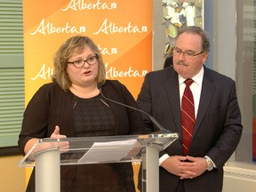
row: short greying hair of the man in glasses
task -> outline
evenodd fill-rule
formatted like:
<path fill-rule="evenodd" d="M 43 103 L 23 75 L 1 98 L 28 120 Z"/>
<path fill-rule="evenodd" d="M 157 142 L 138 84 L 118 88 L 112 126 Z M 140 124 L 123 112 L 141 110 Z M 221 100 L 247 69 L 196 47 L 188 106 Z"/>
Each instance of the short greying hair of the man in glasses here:
<path fill-rule="evenodd" d="M 208 33 L 203 29 L 198 26 L 185 26 L 181 27 L 178 35 L 176 36 L 176 40 L 179 38 L 179 36 L 183 33 L 192 33 L 192 34 L 197 34 L 198 36 L 201 36 L 202 39 L 202 51 L 204 52 L 210 52 L 210 40 L 208 37 Z"/>

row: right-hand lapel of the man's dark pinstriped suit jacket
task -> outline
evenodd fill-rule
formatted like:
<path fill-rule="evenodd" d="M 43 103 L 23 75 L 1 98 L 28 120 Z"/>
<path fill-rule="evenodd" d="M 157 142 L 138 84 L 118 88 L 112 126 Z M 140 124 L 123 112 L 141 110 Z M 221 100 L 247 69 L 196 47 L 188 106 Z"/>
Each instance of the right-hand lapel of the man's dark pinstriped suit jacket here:
<path fill-rule="evenodd" d="M 196 116 L 196 125 L 194 129 L 194 134 L 196 134 L 202 120 L 204 118 L 204 114 L 207 108 L 210 105 L 210 101 L 212 100 L 213 92 L 215 90 L 215 86 L 213 83 L 213 79 L 211 76 L 211 71 L 208 68 L 204 68 L 204 78 L 202 84 L 202 91 L 199 101 L 198 112 Z"/>

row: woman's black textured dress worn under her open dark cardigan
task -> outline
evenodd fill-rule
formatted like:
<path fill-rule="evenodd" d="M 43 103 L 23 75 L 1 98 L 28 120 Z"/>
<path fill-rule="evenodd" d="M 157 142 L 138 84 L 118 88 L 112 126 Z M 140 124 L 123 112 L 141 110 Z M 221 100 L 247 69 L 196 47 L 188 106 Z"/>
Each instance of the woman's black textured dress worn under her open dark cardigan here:
<path fill-rule="evenodd" d="M 73 95 L 72 106 L 76 137 L 115 135 L 114 116 L 108 101 L 100 95 L 90 99 Z M 34 188 L 29 190 L 28 185 L 27 191 L 34 191 Z M 60 167 L 60 191 L 135 191 L 132 164 L 63 165 Z"/>

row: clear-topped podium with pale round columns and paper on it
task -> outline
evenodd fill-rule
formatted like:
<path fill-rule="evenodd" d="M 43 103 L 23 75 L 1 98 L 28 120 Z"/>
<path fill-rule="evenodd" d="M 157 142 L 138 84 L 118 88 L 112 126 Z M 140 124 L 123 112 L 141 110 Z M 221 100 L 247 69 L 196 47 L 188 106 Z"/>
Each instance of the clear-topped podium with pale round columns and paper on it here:
<path fill-rule="evenodd" d="M 159 191 L 159 152 L 178 133 L 39 139 L 20 162 L 36 168 L 36 192 L 60 191 L 60 165 L 140 162 L 141 192 Z M 67 148 L 68 145 L 68 148 Z M 140 179 L 139 179 L 140 180 Z"/>

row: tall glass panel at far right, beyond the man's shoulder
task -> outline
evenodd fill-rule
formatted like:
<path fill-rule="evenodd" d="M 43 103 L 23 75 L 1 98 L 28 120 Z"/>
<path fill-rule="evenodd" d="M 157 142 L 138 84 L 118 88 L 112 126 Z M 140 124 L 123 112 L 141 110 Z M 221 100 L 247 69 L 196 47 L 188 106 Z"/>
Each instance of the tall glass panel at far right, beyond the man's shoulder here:
<path fill-rule="evenodd" d="M 230 166 L 255 169 L 255 3 L 236 1 L 236 92 L 242 112 L 243 135 Z M 254 40 L 253 40 L 254 38 Z M 251 167 L 252 165 L 252 167 Z"/>

